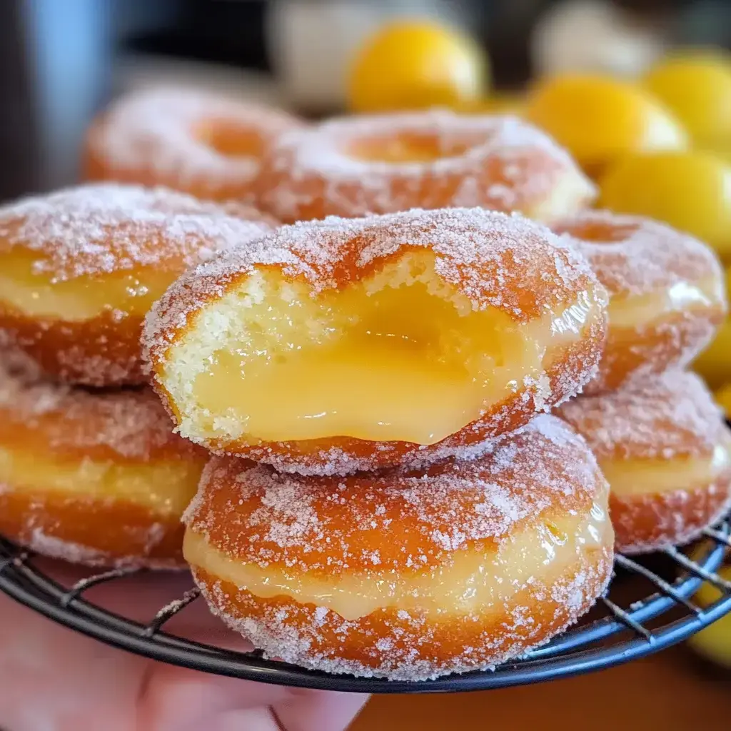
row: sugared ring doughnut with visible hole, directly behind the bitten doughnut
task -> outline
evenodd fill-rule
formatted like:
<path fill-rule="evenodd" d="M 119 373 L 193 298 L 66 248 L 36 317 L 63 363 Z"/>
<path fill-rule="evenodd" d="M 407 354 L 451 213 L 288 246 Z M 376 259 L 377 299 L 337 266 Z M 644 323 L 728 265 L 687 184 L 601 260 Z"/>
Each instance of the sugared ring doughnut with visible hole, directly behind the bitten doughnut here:
<path fill-rule="evenodd" d="M 336 118 L 282 135 L 259 207 L 287 223 L 409 208 L 491 208 L 553 221 L 594 200 L 569 154 L 510 116 L 446 110 Z"/>

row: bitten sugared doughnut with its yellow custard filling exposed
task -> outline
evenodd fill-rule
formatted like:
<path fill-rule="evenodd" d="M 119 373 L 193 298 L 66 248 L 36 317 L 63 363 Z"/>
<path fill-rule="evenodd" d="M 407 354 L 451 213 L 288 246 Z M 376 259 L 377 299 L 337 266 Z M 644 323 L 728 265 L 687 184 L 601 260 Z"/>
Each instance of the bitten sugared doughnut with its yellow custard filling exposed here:
<path fill-rule="evenodd" d="M 606 293 L 539 224 L 480 208 L 285 226 L 151 311 L 183 434 L 303 474 L 461 453 L 594 373 Z"/>

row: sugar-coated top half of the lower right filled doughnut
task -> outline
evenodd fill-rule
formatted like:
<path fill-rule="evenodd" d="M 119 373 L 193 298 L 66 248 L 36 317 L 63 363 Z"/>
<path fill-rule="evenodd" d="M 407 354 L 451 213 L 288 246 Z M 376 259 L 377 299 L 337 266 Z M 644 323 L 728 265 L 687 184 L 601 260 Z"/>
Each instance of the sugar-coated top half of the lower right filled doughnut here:
<path fill-rule="evenodd" d="M 729 439 L 708 387 L 679 370 L 576 398 L 558 414 L 585 436 L 599 461 L 707 458 Z"/>

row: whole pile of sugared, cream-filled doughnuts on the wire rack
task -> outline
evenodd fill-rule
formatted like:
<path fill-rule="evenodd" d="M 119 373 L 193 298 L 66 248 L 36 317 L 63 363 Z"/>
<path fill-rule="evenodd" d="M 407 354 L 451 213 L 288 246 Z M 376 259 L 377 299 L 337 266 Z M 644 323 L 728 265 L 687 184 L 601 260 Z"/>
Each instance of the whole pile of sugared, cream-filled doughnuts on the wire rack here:
<path fill-rule="evenodd" d="M 718 262 L 585 212 L 538 129 L 158 89 L 85 170 L 0 208 L 7 537 L 189 565 L 265 656 L 419 681 L 548 642 L 615 548 L 726 510 L 730 435 L 683 373 Z"/>

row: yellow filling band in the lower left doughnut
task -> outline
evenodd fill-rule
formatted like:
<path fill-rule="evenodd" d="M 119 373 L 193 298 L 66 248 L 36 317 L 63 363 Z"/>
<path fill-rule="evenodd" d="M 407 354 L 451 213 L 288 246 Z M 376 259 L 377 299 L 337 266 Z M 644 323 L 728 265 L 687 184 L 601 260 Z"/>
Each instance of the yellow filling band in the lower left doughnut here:
<path fill-rule="evenodd" d="M 129 500 L 159 515 L 182 515 L 197 489 L 202 463 L 118 464 L 54 460 L 48 455 L 0 447 L 0 485 L 18 492 Z"/>

